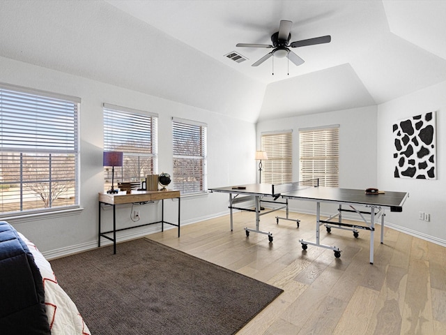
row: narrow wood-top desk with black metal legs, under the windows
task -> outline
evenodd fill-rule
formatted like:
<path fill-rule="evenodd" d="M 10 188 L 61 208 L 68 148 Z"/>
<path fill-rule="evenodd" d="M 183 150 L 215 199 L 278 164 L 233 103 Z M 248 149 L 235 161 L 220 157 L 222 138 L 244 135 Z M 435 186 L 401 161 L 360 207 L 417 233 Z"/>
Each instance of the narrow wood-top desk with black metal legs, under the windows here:
<path fill-rule="evenodd" d="M 175 225 L 178 227 L 178 237 L 180 237 L 180 191 L 132 191 L 131 194 L 110 194 L 99 193 L 99 229 L 98 229 L 98 247 L 100 246 L 100 238 L 105 237 L 110 241 L 113 241 L 113 253 L 116 253 L 116 232 L 121 230 L 128 230 L 132 228 L 143 227 L 144 225 L 154 225 L 155 223 L 161 223 L 161 231 L 164 231 L 164 223 L 169 225 Z M 178 199 L 178 223 L 170 223 L 164 221 L 164 199 Z M 132 227 L 126 227 L 116 229 L 116 204 L 145 204 L 149 202 L 155 202 L 161 200 L 161 221 L 155 221 L 151 223 L 144 223 L 142 225 L 133 225 Z M 102 232 L 100 227 L 100 204 L 110 204 L 113 206 L 113 230 Z M 107 234 L 113 233 L 113 237 L 109 237 Z"/>

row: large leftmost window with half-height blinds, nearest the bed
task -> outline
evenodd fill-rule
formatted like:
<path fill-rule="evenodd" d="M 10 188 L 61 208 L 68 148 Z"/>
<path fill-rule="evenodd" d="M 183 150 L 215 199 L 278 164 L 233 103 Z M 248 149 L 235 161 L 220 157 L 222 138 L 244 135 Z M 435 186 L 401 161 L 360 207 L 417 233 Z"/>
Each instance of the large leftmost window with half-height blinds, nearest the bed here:
<path fill-rule="evenodd" d="M 1 214 L 79 206 L 80 99 L 0 84 Z"/>

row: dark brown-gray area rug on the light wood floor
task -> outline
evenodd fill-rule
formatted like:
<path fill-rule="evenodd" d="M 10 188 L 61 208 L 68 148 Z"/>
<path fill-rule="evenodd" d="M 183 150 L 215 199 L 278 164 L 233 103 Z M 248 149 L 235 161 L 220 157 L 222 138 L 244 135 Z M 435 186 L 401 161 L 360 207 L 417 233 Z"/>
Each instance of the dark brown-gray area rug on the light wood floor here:
<path fill-rule="evenodd" d="M 51 261 L 91 334 L 235 334 L 283 291 L 149 239 Z"/>

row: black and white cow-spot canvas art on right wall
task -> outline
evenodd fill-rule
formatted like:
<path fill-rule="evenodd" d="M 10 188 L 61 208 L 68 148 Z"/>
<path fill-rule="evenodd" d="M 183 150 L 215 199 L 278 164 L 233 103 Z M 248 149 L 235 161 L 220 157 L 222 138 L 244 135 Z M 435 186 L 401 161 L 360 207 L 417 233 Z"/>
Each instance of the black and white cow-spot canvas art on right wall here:
<path fill-rule="evenodd" d="M 436 179 L 435 112 L 393 125 L 395 178 Z"/>

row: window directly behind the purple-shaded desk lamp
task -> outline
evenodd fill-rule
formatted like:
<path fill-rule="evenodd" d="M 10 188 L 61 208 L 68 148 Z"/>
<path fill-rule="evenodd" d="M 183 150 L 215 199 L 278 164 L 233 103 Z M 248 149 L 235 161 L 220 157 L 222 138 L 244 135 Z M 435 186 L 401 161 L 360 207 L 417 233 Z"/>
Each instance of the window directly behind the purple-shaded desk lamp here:
<path fill-rule="evenodd" d="M 123 166 L 114 168 L 115 183 L 140 182 L 157 170 L 157 114 L 104 104 L 104 151 L 122 151 Z M 104 168 L 105 190 L 112 170 Z M 116 187 L 115 184 L 115 187 Z"/>

